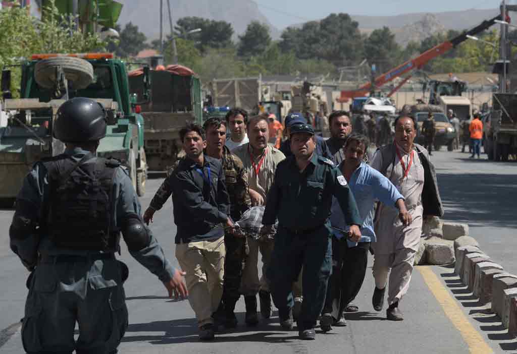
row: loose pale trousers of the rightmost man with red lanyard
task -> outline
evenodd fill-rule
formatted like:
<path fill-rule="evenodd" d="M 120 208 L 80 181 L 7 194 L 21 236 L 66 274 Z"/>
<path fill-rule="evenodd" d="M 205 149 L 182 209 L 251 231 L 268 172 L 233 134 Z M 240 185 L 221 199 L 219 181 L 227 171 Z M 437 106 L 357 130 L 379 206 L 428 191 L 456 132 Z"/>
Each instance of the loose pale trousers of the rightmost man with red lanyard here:
<path fill-rule="evenodd" d="M 375 286 L 383 289 L 388 285 L 388 304 L 400 301 L 407 293 L 413 264 L 415 262 L 415 251 L 410 248 L 403 248 L 390 254 L 375 254 L 373 260 L 373 277 Z M 391 269 L 391 272 L 390 272 Z"/>

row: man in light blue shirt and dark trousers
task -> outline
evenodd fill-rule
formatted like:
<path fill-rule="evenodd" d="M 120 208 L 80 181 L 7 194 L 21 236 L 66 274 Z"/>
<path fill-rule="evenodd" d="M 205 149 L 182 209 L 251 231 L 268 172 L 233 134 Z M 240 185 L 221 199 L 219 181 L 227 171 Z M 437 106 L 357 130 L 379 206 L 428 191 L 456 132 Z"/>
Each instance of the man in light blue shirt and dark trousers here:
<path fill-rule="evenodd" d="M 330 222 L 334 227 L 332 239 L 332 276 L 327 288 L 325 308 L 320 321 L 323 331 L 329 331 L 331 325 L 346 326 L 343 310 L 354 300 L 362 286 L 368 263 L 370 243 L 375 242 L 373 231 L 373 203 L 380 200 L 385 205 L 397 207 L 399 219 L 404 224 L 411 222 L 406 210 L 404 197 L 397 188 L 380 172 L 363 162 L 369 146 L 368 138 L 352 134 L 344 146 L 345 159 L 339 169 L 348 187 L 352 190 L 362 220 L 359 242 L 347 239 L 346 218 L 336 198 L 332 201 Z M 343 230 L 343 231 L 338 231 Z"/>

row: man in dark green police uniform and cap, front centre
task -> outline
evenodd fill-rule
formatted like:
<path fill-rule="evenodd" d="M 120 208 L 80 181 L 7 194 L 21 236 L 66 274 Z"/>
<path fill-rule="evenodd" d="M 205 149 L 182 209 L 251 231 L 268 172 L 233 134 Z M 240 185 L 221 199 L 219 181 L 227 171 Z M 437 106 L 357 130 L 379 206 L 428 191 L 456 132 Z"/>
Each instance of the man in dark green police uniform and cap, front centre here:
<path fill-rule="evenodd" d="M 329 216 L 335 196 L 350 226 L 350 235 L 360 239 L 359 212 L 343 175 L 333 163 L 314 153 L 314 130 L 308 124 L 291 128 L 291 151 L 279 164 L 269 192 L 262 223 L 268 234 L 278 217 L 275 248 L 267 268 L 273 300 L 282 328 L 293 328 L 292 284 L 303 267 L 303 302 L 297 319 L 300 339 L 313 340 L 317 317 L 323 309 L 332 268 Z"/>

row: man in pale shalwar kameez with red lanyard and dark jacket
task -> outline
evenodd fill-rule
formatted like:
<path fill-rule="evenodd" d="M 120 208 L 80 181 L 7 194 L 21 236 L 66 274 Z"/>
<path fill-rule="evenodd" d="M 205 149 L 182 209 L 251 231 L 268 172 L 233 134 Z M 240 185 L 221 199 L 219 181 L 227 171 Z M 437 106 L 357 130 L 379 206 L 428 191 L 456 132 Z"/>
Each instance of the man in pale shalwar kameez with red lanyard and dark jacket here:
<path fill-rule="evenodd" d="M 393 143 L 378 149 L 372 160 L 372 167 L 384 174 L 404 196 L 407 211 L 412 217 L 412 222 L 405 225 L 398 219 L 396 209 L 382 203 L 375 215 L 377 242 L 372 243 L 375 253 L 372 304 L 376 311 L 382 310 L 388 286 L 386 316 L 390 320 L 404 319 L 399 301 L 409 287 L 423 219 L 443 215 L 434 166 L 427 150 L 413 142 L 415 126 L 413 118 L 397 118 Z M 424 200 L 422 195 L 425 195 Z"/>

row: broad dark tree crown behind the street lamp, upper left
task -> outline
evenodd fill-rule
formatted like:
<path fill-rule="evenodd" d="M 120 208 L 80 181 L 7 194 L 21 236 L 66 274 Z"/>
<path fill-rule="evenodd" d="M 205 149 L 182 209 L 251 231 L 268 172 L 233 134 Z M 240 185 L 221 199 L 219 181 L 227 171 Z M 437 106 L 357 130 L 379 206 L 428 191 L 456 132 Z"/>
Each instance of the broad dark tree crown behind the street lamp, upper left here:
<path fill-rule="evenodd" d="M 198 33 L 187 34 L 200 28 Z M 176 22 L 176 37 L 184 37 L 196 42 L 196 47 L 202 53 L 210 48 L 221 49 L 232 46 L 233 28 L 226 21 L 214 21 L 200 17 L 184 17 Z"/>

